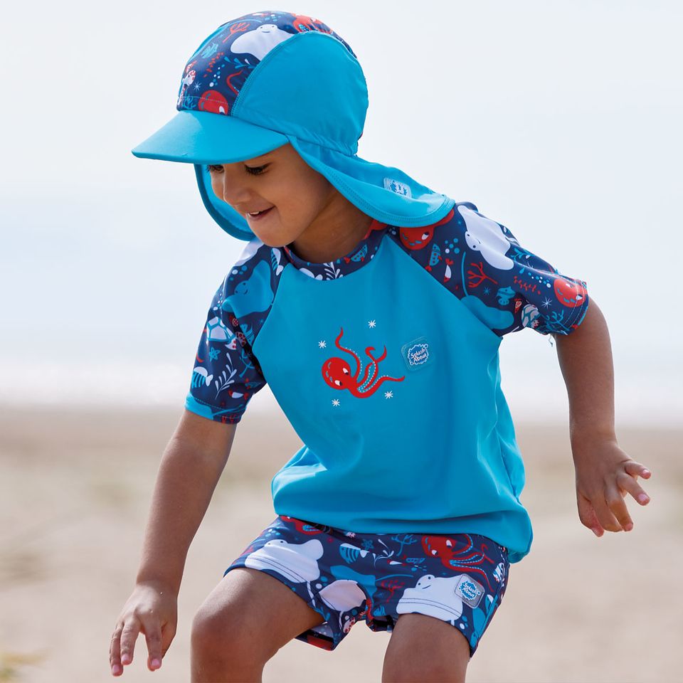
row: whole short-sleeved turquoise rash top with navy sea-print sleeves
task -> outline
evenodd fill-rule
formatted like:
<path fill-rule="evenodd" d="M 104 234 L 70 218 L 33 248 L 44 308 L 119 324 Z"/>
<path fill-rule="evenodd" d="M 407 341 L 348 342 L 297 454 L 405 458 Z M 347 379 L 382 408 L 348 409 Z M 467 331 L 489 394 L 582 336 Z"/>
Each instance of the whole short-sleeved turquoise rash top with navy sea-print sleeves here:
<path fill-rule="evenodd" d="M 186 408 L 236 423 L 270 386 L 304 445 L 275 474 L 277 514 L 364 533 L 472 533 L 531 546 L 524 464 L 500 386 L 504 334 L 570 334 L 586 282 L 467 202 L 442 221 L 374 221 L 309 263 L 258 239 L 208 311 Z"/>

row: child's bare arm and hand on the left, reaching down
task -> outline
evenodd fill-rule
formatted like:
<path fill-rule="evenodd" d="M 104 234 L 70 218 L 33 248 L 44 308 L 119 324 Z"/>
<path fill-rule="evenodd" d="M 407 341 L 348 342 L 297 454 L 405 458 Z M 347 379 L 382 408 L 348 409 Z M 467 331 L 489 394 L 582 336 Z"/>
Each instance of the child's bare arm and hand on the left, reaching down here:
<path fill-rule="evenodd" d="M 158 669 L 176 631 L 177 596 L 189 546 L 226 465 L 236 424 L 184 411 L 164 450 L 154 485 L 137 579 L 110 644 L 112 674 L 120 676 L 144 633 L 147 667 Z"/>

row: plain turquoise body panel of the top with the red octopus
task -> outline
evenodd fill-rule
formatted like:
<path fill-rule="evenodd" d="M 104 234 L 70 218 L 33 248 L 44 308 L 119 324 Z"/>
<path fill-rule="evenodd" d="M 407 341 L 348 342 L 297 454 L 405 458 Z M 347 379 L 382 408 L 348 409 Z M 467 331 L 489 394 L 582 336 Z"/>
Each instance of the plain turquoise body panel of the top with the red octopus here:
<path fill-rule="evenodd" d="M 272 299 L 268 278 L 250 288 L 226 300 L 239 319 Z M 337 280 L 285 268 L 253 344 L 305 443 L 273 477 L 275 512 L 361 532 L 481 534 L 519 561 L 532 530 L 500 341 L 391 240 Z M 363 383 L 366 368 L 377 376 Z"/>

